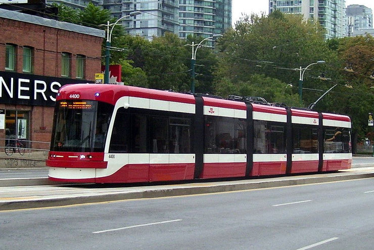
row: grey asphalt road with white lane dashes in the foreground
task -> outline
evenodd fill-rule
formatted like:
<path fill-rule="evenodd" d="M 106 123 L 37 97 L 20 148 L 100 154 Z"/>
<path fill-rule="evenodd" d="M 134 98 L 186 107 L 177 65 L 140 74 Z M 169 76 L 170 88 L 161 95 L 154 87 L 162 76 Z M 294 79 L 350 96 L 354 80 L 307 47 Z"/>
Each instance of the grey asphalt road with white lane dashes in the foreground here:
<path fill-rule="evenodd" d="M 0 212 L 5 249 L 372 249 L 374 178 Z"/>

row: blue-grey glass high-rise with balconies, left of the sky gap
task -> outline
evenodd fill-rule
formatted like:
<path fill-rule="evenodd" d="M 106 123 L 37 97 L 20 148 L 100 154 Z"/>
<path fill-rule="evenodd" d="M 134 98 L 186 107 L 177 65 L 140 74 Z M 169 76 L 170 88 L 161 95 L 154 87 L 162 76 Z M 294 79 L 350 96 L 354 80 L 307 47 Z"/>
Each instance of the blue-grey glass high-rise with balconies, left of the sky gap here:
<path fill-rule="evenodd" d="M 180 38 L 222 34 L 231 27 L 231 5 L 232 0 L 103 0 L 103 7 L 116 18 L 141 11 L 122 25 L 128 33 L 149 39 L 165 32 Z"/>

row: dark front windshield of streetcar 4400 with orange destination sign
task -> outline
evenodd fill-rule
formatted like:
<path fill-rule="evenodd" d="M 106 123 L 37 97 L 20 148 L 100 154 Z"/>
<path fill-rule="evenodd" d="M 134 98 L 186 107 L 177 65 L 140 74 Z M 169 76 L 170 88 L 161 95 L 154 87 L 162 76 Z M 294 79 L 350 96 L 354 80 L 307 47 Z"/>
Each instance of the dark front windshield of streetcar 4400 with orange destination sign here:
<path fill-rule="evenodd" d="M 104 152 L 113 105 L 90 100 L 56 104 L 52 151 Z"/>

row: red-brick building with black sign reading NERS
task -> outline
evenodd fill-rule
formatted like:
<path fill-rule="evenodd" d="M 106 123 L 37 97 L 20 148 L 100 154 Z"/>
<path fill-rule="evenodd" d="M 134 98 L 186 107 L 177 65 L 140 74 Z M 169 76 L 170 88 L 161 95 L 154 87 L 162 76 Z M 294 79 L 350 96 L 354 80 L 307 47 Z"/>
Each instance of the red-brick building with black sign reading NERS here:
<path fill-rule="evenodd" d="M 55 97 L 101 72 L 105 31 L 0 9 L 0 146 L 48 149 Z"/>

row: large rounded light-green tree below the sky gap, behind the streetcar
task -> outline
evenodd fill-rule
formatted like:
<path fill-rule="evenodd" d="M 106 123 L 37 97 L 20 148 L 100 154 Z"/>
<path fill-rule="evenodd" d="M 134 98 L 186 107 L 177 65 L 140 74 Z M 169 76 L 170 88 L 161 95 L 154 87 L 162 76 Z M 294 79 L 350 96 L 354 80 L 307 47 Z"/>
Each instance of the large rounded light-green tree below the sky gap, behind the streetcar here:
<path fill-rule="evenodd" d="M 306 67 L 318 60 L 332 58 L 332 51 L 324 42 L 324 31 L 317 23 L 303 21 L 297 15 L 285 15 L 275 11 L 269 16 L 252 15 L 237 22 L 234 29 L 225 33 L 220 39 L 219 49 L 222 59 L 219 63 L 221 70 L 216 72 L 216 80 L 230 80 L 233 85 L 239 82 L 253 84 L 253 74 L 271 77 L 287 85 L 297 86 L 300 66 Z M 315 77 L 325 68 L 313 66 Z M 305 74 L 304 83 L 317 87 L 320 82 Z M 309 87 L 310 88 L 310 87 Z M 297 93 L 297 88 L 293 88 Z M 280 91 L 280 90 L 279 90 Z M 284 99 L 288 100 L 287 92 Z M 290 94 L 293 94 L 290 93 Z M 314 101 L 306 93 L 304 103 L 306 106 Z"/>

